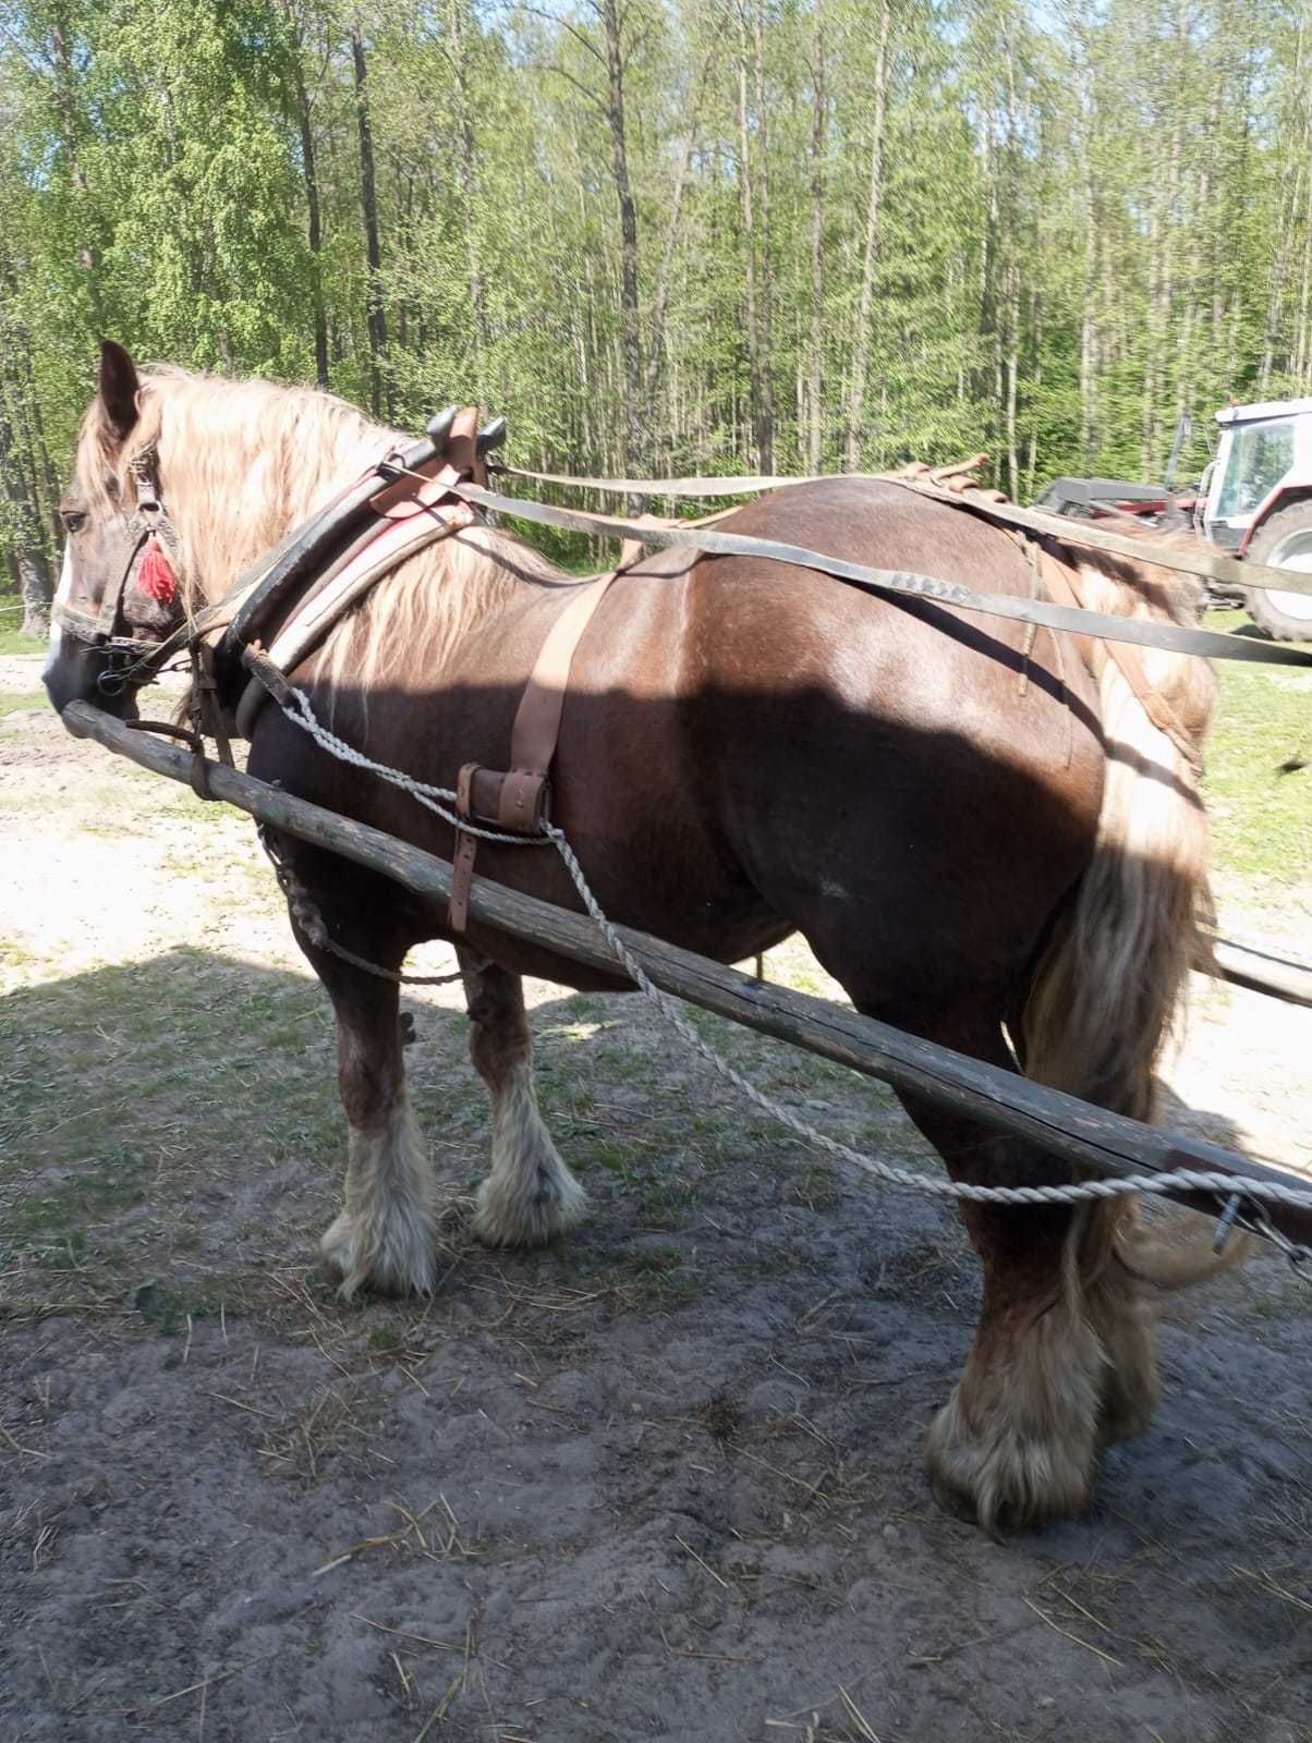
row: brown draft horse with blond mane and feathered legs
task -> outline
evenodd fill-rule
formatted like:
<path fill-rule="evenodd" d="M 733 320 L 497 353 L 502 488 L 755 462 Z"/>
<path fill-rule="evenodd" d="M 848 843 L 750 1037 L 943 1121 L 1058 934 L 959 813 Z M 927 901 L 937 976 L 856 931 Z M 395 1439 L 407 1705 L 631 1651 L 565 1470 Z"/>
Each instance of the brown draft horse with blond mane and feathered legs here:
<path fill-rule="evenodd" d="M 61 505 L 59 601 L 94 615 L 127 561 L 119 627 L 159 641 L 398 439 L 319 390 L 138 371 L 105 343 Z M 134 582 L 141 479 L 176 540 L 167 605 Z M 797 483 L 722 525 L 993 593 L 1035 587 L 1021 540 L 893 481 Z M 1197 617 L 1192 584 L 1150 561 L 1063 556 L 1094 610 Z M 483 518 L 403 563 L 290 682 L 370 758 L 452 786 L 466 762 L 508 767 L 525 680 L 579 586 Z M 99 683 L 108 659 L 56 624 L 51 702 L 131 716 L 131 688 Z M 614 920 L 721 962 L 801 933 L 857 1011 L 1148 1119 L 1207 906 L 1197 748 L 1213 687 L 1188 655 L 1153 648 L 1143 669 L 1153 709 L 1087 638 L 672 547 L 618 573 L 577 645 L 551 816 Z M 445 821 L 328 755 L 281 708 L 251 729 L 249 772 L 452 858 Z M 457 934 L 443 903 L 293 837 L 272 845 L 331 939 L 365 962 L 394 973 L 419 941 L 455 946 L 490 1096 L 473 1232 L 515 1248 L 574 1227 L 584 1192 L 537 1109 L 522 976 L 630 981 L 476 919 Z M 579 906 L 550 849 L 483 844 L 480 856 L 482 877 Z M 298 912 L 293 901 L 297 941 L 337 1016 L 349 1133 L 323 1257 L 345 1297 L 431 1292 L 438 1192 L 407 1095 L 398 987 L 316 943 Z M 900 1100 L 956 1180 L 1073 1178 L 1033 1142 Z M 1124 1197 L 965 1203 L 961 1215 L 982 1306 L 928 1428 L 932 1485 L 989 1530 L 1078 1513 L 1103 1448 L 1141 1433 L 1158 1400 L 1151 1288 L 1200 1265 L 1150 1243 Z"/>

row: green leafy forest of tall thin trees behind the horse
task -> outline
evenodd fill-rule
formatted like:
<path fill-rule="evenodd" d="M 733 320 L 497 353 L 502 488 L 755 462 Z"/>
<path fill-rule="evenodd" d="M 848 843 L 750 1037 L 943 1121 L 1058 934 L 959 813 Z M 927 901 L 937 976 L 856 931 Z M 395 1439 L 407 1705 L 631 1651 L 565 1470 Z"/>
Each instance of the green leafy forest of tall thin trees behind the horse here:
<path fill-rule="evenodd" d="M 1160 478 L 1312 383 L 1312 0 L 9 0 L 0 587 L 96 342 L 581 472 Z M 0 624 L 12 624 L 5 617 Z"/>

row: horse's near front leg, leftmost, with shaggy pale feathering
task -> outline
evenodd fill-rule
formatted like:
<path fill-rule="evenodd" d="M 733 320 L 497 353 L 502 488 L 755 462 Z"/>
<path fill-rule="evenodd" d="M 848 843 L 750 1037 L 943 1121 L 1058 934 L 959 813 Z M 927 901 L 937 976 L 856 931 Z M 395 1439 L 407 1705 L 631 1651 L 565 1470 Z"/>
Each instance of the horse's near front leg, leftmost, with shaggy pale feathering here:
<path fill-rule="evenodd" d="M 347 1299 L 361 1285 L 429 1293 L 436 1189 L 405 1082 L 400 988 L 316 948 L 295 917 L 293 927 L 337 1013 L 337 1081 L 349 1128 L 342 1211 L 319 1243 L 323 1257 Z M 377 939 L 351 943 L 370 960 L 384 957 L 391 967 L 401 960 Z"/>

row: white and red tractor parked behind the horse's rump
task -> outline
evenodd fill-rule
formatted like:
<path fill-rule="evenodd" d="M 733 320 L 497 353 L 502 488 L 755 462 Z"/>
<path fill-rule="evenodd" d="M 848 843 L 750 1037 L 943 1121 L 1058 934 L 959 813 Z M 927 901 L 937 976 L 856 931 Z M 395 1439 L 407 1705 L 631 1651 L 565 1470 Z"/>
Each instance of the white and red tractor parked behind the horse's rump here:
<path fill-rule="evenodd" d="M 1230 556 L 1312 573 L 1312 399 L 1227 406 L 1216 422 L 1221 443 L 1197 492 L 1178 493 L 1171 483 L 1057 478 L 1038 505 L 1090 518 L 1132 514 L 1162 528 L 1193 525 Z M 1181 418 L 1167 479 L 1188 436 Z M 1312 640 L 1312 594 L 1247 587 L 1242 600 L 1253 622 L 1277 641 Z"/>

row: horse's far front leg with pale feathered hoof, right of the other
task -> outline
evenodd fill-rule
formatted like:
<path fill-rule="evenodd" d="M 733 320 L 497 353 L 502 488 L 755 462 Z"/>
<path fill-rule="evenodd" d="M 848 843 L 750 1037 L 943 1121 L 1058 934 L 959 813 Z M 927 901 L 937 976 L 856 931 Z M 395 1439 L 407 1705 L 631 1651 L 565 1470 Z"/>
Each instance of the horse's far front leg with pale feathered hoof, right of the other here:
<path fill-rule="evenodd" d="M 466 950 L 459 959 L 469 1058 L 492 1098 L 492 1173 L 478 1189 L 475 1234 L 489 1246 L 541 1246 L 572 1229 L 588 1199 L 537 1112 L 523 981 Z"/>

